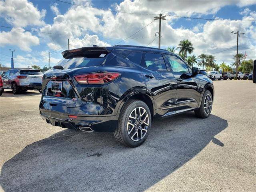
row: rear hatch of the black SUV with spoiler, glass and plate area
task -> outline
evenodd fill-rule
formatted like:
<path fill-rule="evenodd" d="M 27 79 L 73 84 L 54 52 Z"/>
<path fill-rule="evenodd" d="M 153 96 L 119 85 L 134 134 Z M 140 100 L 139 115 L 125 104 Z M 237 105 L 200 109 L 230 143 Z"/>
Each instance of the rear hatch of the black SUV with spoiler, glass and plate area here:
<path fill-rule="evenodd" d="M 74 76 L 97 72 L 97 66 L 106 62 L 109 52 L 102 47 L 62 52 L 64 58 L 43 76 L 42 102 L 67 108 L 85 105 L 88 85 L 78 84 Z"/>

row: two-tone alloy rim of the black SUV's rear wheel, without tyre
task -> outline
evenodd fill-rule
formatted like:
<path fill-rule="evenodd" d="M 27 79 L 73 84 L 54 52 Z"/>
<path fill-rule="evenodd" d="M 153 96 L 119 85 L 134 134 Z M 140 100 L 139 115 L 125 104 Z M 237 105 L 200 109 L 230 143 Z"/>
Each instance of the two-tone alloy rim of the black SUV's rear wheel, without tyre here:
<path fill-rule="evenodd" d="M 129 115 L 127 133 L 131 140 L 139 141 L 144 138 L 148 131 L 148 113 L 143 107 L 136 107 Z"/>

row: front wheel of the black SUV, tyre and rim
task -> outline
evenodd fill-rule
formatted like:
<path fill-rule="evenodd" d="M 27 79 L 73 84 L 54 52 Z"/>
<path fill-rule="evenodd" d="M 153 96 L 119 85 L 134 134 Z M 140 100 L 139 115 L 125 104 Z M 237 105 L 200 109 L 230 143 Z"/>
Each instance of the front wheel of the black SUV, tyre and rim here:
<path fill-rule="evenodd" d="M 199 118 L 207 118 L 212 111 L 212 94 L 209 90 L 204 92 L 200 108 L 195 110 L 195 115 Z"/>

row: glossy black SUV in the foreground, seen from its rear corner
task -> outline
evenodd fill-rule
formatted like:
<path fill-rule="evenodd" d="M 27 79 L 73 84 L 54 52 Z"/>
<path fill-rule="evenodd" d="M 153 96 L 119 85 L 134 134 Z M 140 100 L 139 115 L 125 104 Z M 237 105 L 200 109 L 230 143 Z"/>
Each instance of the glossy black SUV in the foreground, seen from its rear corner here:
<path fill-rule="evenodd" d="M 212 110 L 212 80 L 176 54 L 117 45 L 62 52 L 43 76 L 40 114 L 47 123 L 82 131 L 114 132 L 129 147 L 142 144 L 153 118 Z"/>

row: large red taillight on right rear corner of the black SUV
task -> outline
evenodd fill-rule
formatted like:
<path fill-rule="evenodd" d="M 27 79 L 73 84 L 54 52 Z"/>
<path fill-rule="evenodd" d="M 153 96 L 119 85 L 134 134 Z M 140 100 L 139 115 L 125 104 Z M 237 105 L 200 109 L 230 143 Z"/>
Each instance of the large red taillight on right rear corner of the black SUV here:
<path fill-rule="evenodd" d="M 80 84 L 104 84 L 118 78 L 120 73 L 91 73 L 74 76 Z"/>

